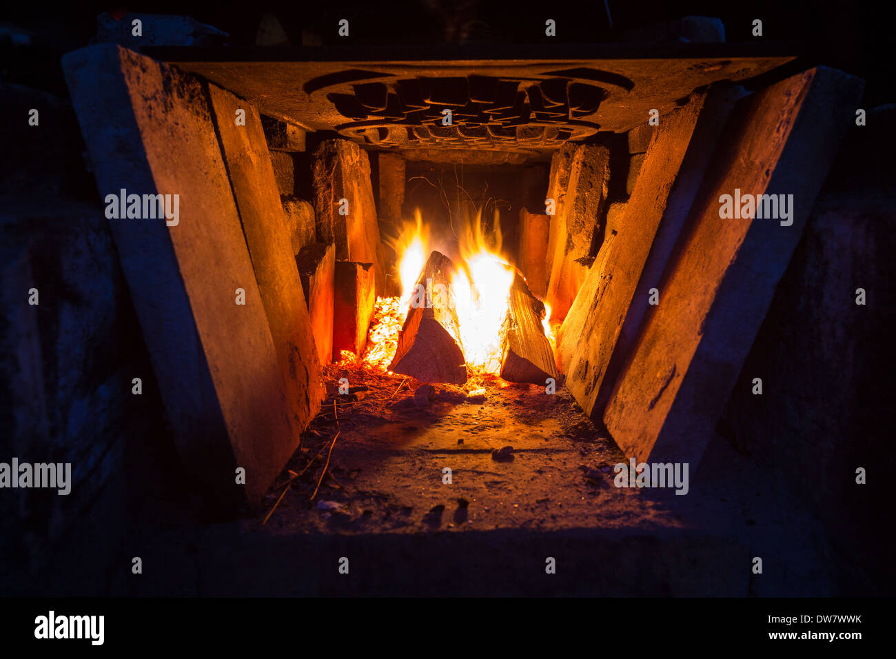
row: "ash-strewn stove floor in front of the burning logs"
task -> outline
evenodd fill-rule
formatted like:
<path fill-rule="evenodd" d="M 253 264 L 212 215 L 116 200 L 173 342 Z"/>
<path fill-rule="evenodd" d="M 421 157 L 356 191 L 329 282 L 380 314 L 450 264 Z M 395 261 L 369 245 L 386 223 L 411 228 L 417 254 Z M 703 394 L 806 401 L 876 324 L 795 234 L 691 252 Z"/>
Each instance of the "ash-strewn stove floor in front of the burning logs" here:
<path fill-rule="evenodd" d="M 614 487 L 624 455 L 563 386 L 428 386 L 354 367 L 327 376 L 330 398 L 265 498 L 264 515 L 277 506 L 271 530 L 679 525 L 668 499 Z"/>

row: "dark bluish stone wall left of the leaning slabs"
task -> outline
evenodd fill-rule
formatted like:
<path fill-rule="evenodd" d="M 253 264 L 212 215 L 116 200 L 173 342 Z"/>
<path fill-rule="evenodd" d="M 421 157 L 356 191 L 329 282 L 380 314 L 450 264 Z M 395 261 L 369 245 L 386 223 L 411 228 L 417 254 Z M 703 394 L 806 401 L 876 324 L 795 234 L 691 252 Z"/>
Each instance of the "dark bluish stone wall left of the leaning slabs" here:
<path fill-rule="evenodd" d="M 177 473 L 177 459 L 71 104 L 25 87 L 4 95 L 7 109 L 39 108 L 40 123 L 3 122 L 21 157 L 0 190 L 0 462 L 71 463 L 72 484 L 2 490 L 0 584 L 102 593 L 116 565 L 129 574 L 129 526 L 183 506 L 152 477 Z"/>

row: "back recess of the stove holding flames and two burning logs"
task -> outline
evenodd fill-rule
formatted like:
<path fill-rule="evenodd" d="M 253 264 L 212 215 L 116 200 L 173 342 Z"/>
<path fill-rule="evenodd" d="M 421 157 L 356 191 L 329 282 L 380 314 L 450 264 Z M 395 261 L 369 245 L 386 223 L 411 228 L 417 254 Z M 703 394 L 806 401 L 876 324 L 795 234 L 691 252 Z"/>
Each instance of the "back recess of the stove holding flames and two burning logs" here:
<path fill-rule="evenodd" d="M 550 307 L 532 290 L 544 297 L 543 268 L 530 283 L 517 265 L 521 228 L 540 230 L 527 235 L 530 262 L 547 249 L 547 216 L 522 205 L 544 204 L 547 168 L 413 163 L 408 178 L 404 216 L 414 219 L 381 222 L 397 294 L 377 297 L 361 363 L 422 383 L 556 383 Z"/>

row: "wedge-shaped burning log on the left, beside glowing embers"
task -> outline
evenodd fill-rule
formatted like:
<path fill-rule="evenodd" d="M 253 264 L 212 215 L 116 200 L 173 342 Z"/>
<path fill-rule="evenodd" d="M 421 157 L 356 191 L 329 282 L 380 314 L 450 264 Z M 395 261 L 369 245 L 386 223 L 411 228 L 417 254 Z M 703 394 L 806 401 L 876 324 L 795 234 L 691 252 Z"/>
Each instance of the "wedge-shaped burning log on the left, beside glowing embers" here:
<path fill-rule="evenodd" d="M 448 296 L 455 272 L 457 267 L 444 254 L 434 251 L 426 259 L 390 370 L 420 382 L 462 385 L 467 381 L 460 324 Z"/>

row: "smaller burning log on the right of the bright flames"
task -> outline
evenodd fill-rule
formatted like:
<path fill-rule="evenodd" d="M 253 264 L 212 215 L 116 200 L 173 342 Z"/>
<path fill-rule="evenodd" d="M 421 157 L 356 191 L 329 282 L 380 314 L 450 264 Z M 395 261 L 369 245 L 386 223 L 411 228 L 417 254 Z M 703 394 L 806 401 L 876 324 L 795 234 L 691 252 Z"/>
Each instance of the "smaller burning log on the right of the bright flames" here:
<path fill-rule="evenodd" d="M 545 305 L 517 273 L 508 297 L 499 374 L 508 382 L 544 385 L 548 377 L 557 377 L 554 351 L 541 325 L 544 318 Z"/>

